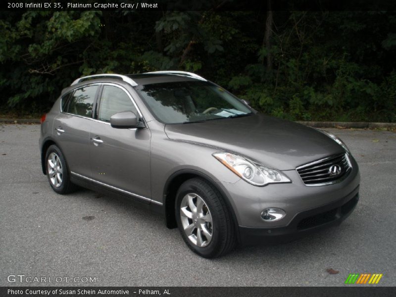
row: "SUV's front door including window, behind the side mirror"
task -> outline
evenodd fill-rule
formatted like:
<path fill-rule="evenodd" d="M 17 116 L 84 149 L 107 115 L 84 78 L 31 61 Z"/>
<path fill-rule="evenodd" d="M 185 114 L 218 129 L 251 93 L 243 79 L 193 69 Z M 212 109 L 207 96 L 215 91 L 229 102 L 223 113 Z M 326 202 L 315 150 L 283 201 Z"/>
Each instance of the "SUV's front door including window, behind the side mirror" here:
<path fill-rule="evenodd" d="M 110 117 L 121 111 L 133 111 L 141 116 L 124 88 L 104 84 L 98 98 L 96 121 L 91 126 L 89 148 L 93 178 L 149 202 L 150 130 L 111 127 Z"/>

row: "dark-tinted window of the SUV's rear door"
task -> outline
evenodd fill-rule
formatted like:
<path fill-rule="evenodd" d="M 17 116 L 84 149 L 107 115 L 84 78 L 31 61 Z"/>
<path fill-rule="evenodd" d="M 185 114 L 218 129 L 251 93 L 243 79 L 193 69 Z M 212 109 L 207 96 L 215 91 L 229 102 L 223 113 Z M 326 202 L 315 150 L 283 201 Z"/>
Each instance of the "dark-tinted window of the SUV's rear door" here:
<path fill-rule="evenodd" d="M 65 105 L 62 106 L 63 111 L 75 115 L 91 117 L 97 91 L 98 86 L 88 86 L 77 89 L 67 100 Z"/>

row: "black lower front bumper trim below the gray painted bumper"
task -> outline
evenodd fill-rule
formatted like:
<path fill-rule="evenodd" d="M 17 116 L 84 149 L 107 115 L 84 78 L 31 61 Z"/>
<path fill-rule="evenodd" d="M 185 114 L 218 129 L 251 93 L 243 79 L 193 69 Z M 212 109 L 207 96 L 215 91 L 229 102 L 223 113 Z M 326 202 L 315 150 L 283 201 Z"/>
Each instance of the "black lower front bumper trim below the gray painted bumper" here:
<path fill-rule="evenodd" d="M 352 213 L 358 200 L 359 187 L 335 202 L 297 213 L 285 227 L 252 228 L 240 226 L 240 243 L 242 245 L 284 243 L 324 228 L 337 226 Z"/>

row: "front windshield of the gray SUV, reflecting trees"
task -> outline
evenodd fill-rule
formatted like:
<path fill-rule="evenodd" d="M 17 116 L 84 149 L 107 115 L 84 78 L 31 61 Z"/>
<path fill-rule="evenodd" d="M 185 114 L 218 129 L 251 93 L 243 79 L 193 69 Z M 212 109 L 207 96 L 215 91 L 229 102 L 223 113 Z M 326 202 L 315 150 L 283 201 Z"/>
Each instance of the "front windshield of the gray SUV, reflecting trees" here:
<path fill-rule="evenodd" d="M 165 124 L 194 123 L 251 114 L 251 110 L 224 89 L 204 81 L 156 83 L 137 91 Z"/>

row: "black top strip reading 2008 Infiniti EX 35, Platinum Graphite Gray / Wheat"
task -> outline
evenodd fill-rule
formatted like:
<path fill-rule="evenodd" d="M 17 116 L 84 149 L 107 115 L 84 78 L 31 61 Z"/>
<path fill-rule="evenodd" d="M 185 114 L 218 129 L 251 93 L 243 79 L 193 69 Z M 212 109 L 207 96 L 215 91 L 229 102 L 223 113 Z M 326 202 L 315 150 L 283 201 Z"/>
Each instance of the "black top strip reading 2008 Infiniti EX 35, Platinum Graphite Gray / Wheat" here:
<path fill-rule="evenodd" d="M 3 11 L 396 10 L 395 0 L 7 0 L 1 1 L 0 5 Z"/>

